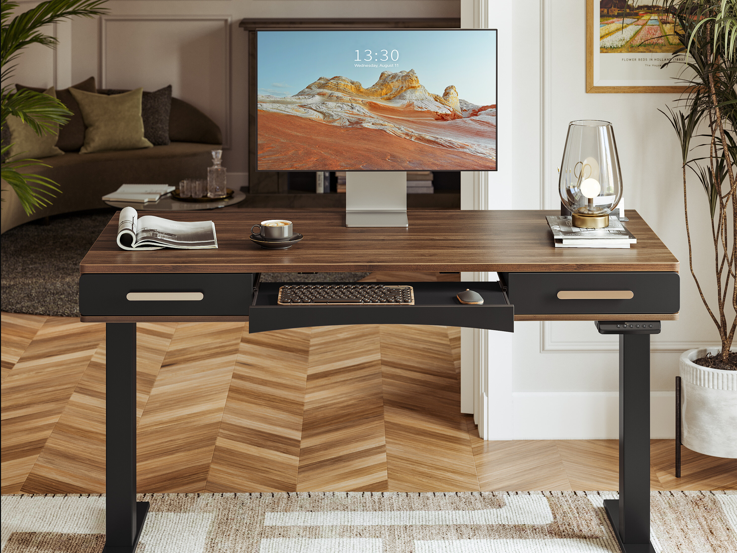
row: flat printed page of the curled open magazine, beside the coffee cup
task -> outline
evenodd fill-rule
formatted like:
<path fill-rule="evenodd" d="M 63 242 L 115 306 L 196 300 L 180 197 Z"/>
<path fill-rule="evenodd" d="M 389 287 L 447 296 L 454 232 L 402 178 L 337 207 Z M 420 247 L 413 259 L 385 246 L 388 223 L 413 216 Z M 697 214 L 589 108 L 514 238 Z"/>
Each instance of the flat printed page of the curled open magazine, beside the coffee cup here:
<path fill-rule="evenodd" d="M 184 223 L 162 219 L 155 215 L 144 215 L 139 218 L 136 229 L 136 246 L 139 245 L 169 246 L 170 248 L 217 248 L 215 225 L 212 220 Z"/>

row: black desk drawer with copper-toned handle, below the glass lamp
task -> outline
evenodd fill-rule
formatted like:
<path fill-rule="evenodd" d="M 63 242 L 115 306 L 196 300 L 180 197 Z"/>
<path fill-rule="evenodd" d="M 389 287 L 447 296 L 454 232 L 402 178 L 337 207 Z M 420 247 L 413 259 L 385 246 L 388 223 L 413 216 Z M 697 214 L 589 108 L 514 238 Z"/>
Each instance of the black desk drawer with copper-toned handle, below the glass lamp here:
<path fill-rule="evenodd" d="M 678 313 L 680 309 L 678 273 L 499 273 L 499 276 L 506 286 L 509 303 L 514 305 L 514 313 L 520 315 Z M 579 296 L 587 297 L 575 299 Z"/>

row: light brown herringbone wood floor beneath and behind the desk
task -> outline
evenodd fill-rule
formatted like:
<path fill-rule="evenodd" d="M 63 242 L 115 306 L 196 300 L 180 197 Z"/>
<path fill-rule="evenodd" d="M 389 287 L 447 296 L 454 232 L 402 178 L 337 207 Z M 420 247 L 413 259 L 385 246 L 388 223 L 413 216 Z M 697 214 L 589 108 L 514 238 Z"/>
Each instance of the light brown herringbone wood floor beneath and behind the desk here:
<path fill-rule="evenodd" d="M 617 489 L 614 440 L 479 439 L 459 349 L 454 327 L 139 324 L 139 491 Z M 104 492 L 105 326 L 2 313 L 1 378 L 2 493 Z M 676 479 L 673 448 L 652 442 L 654 490 L 737 489 L 734 459 L 685 448 Z"/>

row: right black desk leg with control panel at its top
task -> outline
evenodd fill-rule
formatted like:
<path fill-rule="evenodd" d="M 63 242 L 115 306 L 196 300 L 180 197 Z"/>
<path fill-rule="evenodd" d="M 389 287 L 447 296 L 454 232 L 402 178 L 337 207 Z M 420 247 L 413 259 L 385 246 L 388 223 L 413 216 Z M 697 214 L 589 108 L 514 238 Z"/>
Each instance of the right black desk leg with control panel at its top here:
<path fill-rule="evenodd" d="M 643 322 L 649 325 L 647 330 Z M 650 334 L 660 333 L 660 321 L 637 321 L 632 327 L 635 324 L 637 328 L 629 331 L 624 330 L 629 327 L 624 321 L 597 323 L 600 333 L 619 334 L 619 499 L 605 499 L 604 509 L 624 553 L 654 553 L 650 543 Z"/>

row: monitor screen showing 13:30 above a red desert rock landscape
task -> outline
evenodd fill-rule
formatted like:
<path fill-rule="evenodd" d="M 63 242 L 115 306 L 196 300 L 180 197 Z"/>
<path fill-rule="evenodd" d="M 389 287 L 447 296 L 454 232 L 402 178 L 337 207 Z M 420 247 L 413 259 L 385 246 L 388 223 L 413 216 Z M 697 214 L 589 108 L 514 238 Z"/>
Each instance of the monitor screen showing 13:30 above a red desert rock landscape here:
<path fill-rule="evenodd" d="M 257 32 L 257 170 L 493 171 L 495 29 Z"/>

